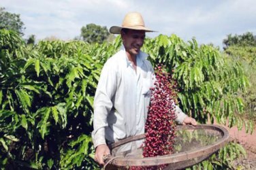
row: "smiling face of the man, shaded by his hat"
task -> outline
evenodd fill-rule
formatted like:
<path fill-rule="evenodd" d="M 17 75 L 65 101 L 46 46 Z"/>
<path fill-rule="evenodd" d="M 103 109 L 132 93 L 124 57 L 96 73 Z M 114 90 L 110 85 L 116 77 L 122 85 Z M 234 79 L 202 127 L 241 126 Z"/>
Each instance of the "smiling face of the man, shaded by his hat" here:
<path fill-rule="evenodd" d="M 127 33 L 122 31 L 123 45 L 125 50 L 135 56 L 140 52 L 140 48 L 144 44 L 145 31 L 129 29 Z"/>

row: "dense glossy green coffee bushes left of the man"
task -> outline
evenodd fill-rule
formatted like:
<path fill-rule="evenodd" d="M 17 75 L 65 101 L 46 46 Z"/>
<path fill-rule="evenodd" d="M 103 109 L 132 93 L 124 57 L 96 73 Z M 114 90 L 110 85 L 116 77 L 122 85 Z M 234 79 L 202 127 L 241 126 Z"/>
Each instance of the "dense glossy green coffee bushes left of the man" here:
<path fill-rule="evenodd" d="M 0 33 L 1 167 L 96 166 L 89 157 L 89 135 L 102 63 L 89 53 L 93 47 L 82 41 L 40 41 L 31 49 L 16 33 Z M 76 153 L 82 162 L 65 157 L 74 152 L 74 140 L 85 147 Z"/>

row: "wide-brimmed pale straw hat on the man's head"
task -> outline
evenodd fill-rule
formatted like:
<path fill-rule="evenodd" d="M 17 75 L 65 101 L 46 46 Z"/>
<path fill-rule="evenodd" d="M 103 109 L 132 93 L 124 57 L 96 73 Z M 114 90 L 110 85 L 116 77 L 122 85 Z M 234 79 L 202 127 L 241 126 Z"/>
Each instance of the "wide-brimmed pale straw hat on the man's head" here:
<path fill-rule="evenodd" d="M 138 12 L 130 12 L 126 14 L 122 27 L 113 26 L 110 27 L 110 33 L 120 34 L 121 29 L 135 29 L 144 30 L 145 32 L 155 32 L 145 27 L 142 15 Z"/>

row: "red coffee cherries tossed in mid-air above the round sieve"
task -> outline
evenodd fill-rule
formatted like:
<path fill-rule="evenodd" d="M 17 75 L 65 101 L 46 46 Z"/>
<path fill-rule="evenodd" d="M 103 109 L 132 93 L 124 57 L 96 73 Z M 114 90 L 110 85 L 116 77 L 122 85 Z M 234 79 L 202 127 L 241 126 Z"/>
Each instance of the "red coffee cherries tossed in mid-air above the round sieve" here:
<path fill-rule="evenodd" d="M 172 154 L 174 148 L 175 103 L 177 97 L 176 82 L 172 81 L 163 66 L 155 68 L 155 83 L 151 88 L 148 117 L 145 124 L 144 157 Z M 163 169 L 158 167 L 130 167 L 130 169 Z"/>

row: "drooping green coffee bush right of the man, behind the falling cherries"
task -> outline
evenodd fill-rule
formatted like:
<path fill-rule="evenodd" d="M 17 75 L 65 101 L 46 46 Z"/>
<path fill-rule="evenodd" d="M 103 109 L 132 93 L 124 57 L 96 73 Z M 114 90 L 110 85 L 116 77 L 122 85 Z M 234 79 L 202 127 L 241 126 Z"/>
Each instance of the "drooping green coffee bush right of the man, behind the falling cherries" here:
<path fill-rule="evenodd" d="M 245 90 L 249 81 L 240 63 L 230 63 L 212 46 L 199 47 L 195 39 L 186 44 L 176 35 L 148 39 L 144 50 L 153 63 L 163 63 L 173 74 L 183 111 L 202 123 L 207 122 L 208 116 L 221 124 L 229 119 L 229 127 L 242 121 L 236 116 L 244 109 L 237 92 Z"/>

